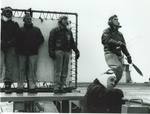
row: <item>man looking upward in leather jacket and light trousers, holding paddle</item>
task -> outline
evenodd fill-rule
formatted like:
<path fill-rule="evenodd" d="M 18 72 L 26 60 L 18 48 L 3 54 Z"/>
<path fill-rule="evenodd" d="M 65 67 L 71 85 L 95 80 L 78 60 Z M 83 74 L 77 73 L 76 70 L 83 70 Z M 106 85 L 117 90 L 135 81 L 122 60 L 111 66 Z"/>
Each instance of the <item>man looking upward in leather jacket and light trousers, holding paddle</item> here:
<path fill-rule="evenodd" d="M 127 57 L 129 64 L 132 63 L 131 56 L 126 48 L 126 42 L 121 32 L 117 15 L 113 15 L 108 20 L 109 28 L 102 34 L 102 44 L 104 45 L 105 60 L 108 66 L 116 75 L 116 84 L 122 77 L 123 73 L 123 55 Z"/>

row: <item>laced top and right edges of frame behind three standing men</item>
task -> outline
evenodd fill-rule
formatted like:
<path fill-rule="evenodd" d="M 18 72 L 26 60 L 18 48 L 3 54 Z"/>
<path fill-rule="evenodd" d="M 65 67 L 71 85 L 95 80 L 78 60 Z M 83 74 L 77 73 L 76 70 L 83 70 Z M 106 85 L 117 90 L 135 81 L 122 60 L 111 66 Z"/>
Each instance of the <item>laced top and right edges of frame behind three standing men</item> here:
<path fill-rule="evenodd" d="M 3 8 L 1 8 L 1 10 L 3 10 Z M 74 40 L 76 45 L 78 44 L 78 14 L 77 13 L 71 13 L 71 12 L 57 12 L 57 11 L 42 11 L 42 10 L 32 10 L 31 8 L 26 10 L 26 9 L 13 9 L 13 16 L 14 17 L 23 17 L 24 14 L 26 12 L 30 12 L 34 18 L 34 14 L 38 14 L 39 17 L 36 15 L 36 18 L 41 19 L 51 19 L 51 20 L 58 20 L 58 18 L 62 15 L 66 15 L 66 16 L 75 16 L 75 22 L 72 23 L 73 29 L 73 36 L 74 36 Z M 77 69 L 78 69 L 78 61 L 75 58 L 75 54 L 72 53 L 72 57 L 71 57 L 71 77 L 72 82 L 70 84 L 70 86 L 73 86 L 74 88 L 77 88 Z M 41 88 L 42 89 L 42 88 Z M 3 89 L 1 89 L 0 91 L 2 91 Z"/>

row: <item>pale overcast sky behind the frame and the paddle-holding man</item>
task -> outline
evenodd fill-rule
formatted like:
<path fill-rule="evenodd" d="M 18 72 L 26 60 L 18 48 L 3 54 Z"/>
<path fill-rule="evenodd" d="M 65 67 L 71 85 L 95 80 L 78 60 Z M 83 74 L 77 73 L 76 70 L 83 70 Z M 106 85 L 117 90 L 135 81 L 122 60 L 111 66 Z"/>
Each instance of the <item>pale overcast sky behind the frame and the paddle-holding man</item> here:
<path fill-rule="evenodd" d="M 91 81 L 108 69 L 101 35 L 108 27 L 108 18 L 117 14 L 133 62 L 142 70 L 140 77 L 131 67 L 135 82 L 148 81 L 150 77 L 150 0 L 1 0 L 2 7 L 17 9 L 75 12 L 79 15 L 78 47 L 79 81 Z"/>

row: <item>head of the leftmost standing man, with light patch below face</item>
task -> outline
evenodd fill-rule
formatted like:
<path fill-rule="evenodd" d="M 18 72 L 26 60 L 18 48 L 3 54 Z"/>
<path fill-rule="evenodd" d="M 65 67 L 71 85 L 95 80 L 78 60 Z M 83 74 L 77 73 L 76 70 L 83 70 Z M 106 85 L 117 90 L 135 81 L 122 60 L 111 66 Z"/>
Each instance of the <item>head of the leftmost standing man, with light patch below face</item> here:
<path fill-rule="evenodd" d="M 12 8 L 11 7 L 5 7 L 3 10 L 2 10 L 2 19 L 4 21 L 8 21 L 8 20 L 11 20 L 12 19 Z"/>

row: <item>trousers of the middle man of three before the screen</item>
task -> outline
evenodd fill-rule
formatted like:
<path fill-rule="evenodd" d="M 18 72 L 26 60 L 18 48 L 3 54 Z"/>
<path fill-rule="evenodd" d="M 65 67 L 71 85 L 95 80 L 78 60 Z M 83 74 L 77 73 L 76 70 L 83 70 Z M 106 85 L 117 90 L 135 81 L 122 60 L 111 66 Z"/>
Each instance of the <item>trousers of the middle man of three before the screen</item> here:
<path fill-rule="evenodd" d="M 23 88 L 23 83 L 26 80 L 29 83 L 29 88 L 34 89 L 36 87 L 36 72 L 37 72 L 37 55 L 24 56 L 19 55 L 19 77 L 18 88 Z"/>

